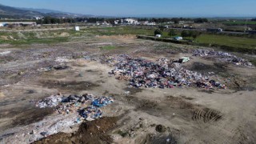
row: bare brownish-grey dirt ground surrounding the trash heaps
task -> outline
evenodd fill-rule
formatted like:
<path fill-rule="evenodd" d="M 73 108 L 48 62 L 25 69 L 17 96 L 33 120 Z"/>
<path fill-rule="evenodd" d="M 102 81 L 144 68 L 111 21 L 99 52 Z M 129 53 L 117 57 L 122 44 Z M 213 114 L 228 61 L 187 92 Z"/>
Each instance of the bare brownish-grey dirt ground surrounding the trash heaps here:
<path fill-rule="evenodd" d="M 256 142 L 255 69 L 192 57 L 196 48 L 133 36 L 97 36 L 51 46 L 0 46 L 0 143 Z M 1 54 L 6 51 L 10 53 Z M 108 74 L 113 67 L 100 58 L 112 54 L 152 61 L 189 56 L 187 69 L 214 72 L 228 88 L 131 88 Z M 45 69 L 63 65 L 65 70 Z M 64 126 L 59 123 L 74 115 L 34 106 L 58 93 L 113 96 L 115 102 L 102 109 L 106 118 Z M 43 138 L 40 133 L 53 126 L 59 133 Z"/>

